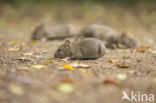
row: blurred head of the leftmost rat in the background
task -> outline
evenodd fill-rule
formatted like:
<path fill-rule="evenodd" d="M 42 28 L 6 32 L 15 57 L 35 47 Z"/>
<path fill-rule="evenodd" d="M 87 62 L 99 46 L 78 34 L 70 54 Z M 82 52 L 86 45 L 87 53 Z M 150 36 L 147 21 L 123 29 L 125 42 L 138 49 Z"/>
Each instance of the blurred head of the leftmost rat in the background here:
<path fill-rule="evenodd" d="M 34 32 L 32 33 L 33 40 L 41 40 L 47 37 L 47 33 L 45 31 L 44 25 L 38 25 Z"/>

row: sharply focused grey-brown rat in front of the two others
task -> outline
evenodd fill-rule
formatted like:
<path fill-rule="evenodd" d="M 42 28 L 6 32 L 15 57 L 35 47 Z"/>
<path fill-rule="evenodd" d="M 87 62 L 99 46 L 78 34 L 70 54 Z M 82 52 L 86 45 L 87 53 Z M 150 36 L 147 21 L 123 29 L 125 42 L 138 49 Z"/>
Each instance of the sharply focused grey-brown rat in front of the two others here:
<path fill-rule="evenodd" d="M 75 42 L 67 40 L 55 52 L 56 58 L 96 59 L 105 54 L 105 44 L 96 38 L 84 38 Z"/>

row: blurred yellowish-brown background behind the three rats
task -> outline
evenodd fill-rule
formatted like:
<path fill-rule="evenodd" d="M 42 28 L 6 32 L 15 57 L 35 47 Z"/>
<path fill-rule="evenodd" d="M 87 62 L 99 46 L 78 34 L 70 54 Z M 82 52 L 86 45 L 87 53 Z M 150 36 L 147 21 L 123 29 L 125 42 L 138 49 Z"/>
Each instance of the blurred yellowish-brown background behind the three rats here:
<path fill-rule="evenodd" d="M 29 40 L 37 24 L 92 23 L 156 43 L 156 0 L 0 0 L 0 37 Z"/>

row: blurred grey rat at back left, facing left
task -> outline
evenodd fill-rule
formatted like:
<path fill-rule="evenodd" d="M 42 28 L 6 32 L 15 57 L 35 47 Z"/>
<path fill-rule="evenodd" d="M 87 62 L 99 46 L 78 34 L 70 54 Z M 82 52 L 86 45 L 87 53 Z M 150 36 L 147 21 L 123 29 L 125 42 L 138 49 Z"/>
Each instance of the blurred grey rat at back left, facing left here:
<path fill-rule="evenodd" d="M 65 39 L 77 34 L 77 29 L 72 24 L 57 24 L 53 26 L 38 25 L 32 33 L 32 40 Z"/>

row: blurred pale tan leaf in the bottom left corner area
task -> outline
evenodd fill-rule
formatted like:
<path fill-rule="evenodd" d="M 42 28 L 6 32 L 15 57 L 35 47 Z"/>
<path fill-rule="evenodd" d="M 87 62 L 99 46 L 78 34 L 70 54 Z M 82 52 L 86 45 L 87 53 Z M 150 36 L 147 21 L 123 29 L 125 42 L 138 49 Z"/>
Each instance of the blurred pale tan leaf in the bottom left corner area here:
<path fill-rule="evenodd" d="M 16 94 L 16 95 L 24 94 L 24 88 L 17 84 L 10 84 L 8 86 L 8 89 L 10 90 L 11 93 Z"/>

